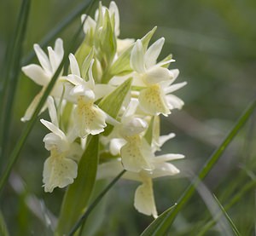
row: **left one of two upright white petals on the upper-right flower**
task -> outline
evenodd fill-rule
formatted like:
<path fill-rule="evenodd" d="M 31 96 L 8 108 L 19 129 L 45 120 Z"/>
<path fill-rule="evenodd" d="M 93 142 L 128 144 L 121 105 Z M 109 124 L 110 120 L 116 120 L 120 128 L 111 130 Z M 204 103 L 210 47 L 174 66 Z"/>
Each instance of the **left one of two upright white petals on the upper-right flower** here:
<path fill-rule="evenodd" d="M 131 49 L 131 68 L 139 73 L 145 72 L 143 43 L 137 39 L 134 47 Z"/>

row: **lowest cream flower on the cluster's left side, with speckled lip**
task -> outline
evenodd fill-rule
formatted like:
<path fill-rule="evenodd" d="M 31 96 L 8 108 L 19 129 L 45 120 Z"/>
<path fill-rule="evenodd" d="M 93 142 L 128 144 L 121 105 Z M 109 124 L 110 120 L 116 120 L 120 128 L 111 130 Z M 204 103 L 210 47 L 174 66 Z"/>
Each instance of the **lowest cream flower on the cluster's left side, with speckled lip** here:
<path fill-rule="evenodd" d="M 44 146 L 50 152 L 49 158 L 44 162 L 43 182 L 44 191 L 51 193 L 55 187 L 66 187 L 73 183 L 77 177 L 77 161 L 82 149 L 74 142 L 75 136 L 72 132 L 65 135 L 59 129 L 57 113 L 55 111 L 54 100 L 48 98 L 49 114 L 52 122 L 41 119 L 51 132 L 44 136 Z"/>

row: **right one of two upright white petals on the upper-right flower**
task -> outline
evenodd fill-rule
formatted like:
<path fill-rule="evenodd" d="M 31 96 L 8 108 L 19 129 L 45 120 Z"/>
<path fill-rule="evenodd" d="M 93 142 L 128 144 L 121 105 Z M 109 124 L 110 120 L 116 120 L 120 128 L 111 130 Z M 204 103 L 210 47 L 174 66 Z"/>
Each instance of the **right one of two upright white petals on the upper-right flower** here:
<path fill-rule="evenodd" d="M 150 68 L 156 64 L 156 60 L 160 55 L 160 52 L 161 52 L 161 49 L 163 48 L 164 43 L 165 43 L 165 38 L 161 37 L 148 48 L 145 54 L 146 68 Z"/>

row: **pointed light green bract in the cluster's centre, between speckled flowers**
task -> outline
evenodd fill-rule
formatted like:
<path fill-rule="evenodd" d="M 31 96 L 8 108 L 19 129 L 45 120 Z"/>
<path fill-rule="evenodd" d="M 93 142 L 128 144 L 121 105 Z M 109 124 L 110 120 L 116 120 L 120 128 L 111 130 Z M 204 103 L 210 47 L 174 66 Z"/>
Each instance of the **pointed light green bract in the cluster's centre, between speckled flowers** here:
<path fill-rule="evenodd" d="M 131 89 L 132 78 L 128 78 L 124 83 L 119 85 L 118 88 L 114 89 L 112 93 L 106 96 L 99 103 L 99 107 L 112 118 L 117 118 L 119 110 L 125 101 L 125 97 L 128 95 Z M 108 125 L 104 131 L 104 135 L 108 135 L 113 130 L 112 125 Z"/>

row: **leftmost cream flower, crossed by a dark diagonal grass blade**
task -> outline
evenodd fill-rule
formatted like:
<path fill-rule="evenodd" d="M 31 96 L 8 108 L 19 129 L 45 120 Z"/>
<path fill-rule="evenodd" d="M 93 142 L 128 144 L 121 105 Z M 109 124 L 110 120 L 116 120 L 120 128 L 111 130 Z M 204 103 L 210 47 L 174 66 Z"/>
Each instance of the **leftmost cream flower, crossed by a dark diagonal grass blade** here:
<path fill-rule="evenodd" d="M 35 83 L 38 83 L 38 85 L 43 87 L 38 95 L 35 96 L 30 106 L 28 106 L 28 108 L 26 109 L 24 117 L 21 118 L 21 121 L 23 122 L 29 120 L 32 117 L 35 108 L 38 106 L 38 102 L 44 94 L 44 89 L 46 89 L 50 79 L 55 74 L 55 71 L 60 65 L 64 55 L 63 42 L 61 38 L 58 38 L 55 41 L 54 49 L 52 49 L 51 47 L 48 47 L 47 49 L 49 55 L 46 55 L 43 49 L 41 49 L 38 44 L 34 44 L 34 50 L 41 66 L 31 64 L 22 67 L 22 72 L 24 72 L 27 77 L 31 78 Z M 63 84 L 61 83 L 61 79 L 59 78 L 59 81 L 55 83 L 55 87 L 52 90 L 51 95 L 61 96 L 62 89 Z M 47 106 L 44 106 L 41 112 L 43 112 L 46 107 Z"/>

